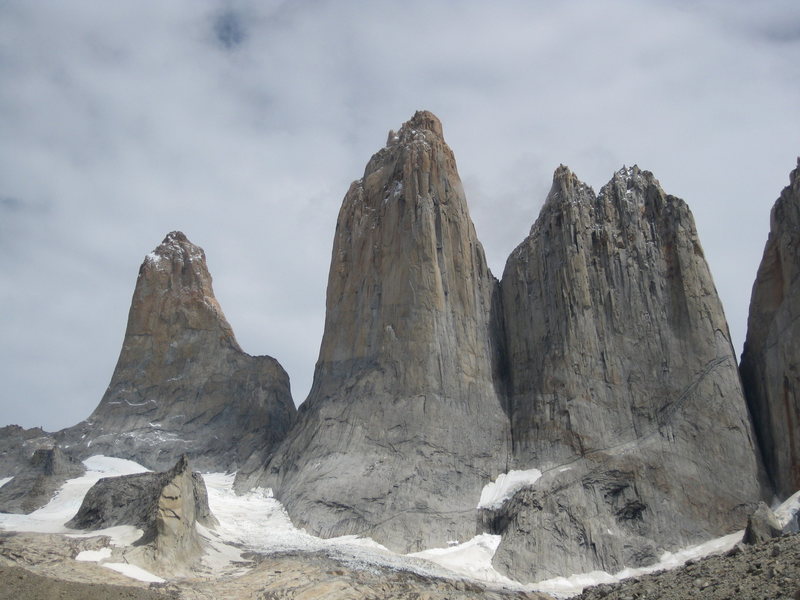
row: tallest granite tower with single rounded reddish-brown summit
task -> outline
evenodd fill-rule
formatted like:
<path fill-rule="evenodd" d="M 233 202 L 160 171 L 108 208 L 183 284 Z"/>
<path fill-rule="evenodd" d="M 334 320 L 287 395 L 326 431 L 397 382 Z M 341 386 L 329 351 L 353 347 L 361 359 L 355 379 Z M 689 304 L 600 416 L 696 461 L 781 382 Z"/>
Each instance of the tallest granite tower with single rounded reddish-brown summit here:
<path fill-rule="evenodd" d="M 344 198 L 314 384 L 286 442 L 237 486 L 315 534 L 419 550 L 475 534 L 507 468 L 498 283 L 438 119 L 418 112 Z"/>

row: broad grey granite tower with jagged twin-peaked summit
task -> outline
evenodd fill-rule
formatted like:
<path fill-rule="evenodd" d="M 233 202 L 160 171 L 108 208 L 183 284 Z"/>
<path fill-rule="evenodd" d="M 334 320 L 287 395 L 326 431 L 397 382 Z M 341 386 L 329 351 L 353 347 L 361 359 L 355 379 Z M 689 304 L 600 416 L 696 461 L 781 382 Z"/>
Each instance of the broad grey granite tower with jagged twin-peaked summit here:
<path fill-rule="evenodd" d="M 653 562 L 744 526 L 759 464 L 728 327 L 686 204 L 622 169 L 566 167 L 502 280 L 517 468 L 482 515 L 533 581 Z"/>

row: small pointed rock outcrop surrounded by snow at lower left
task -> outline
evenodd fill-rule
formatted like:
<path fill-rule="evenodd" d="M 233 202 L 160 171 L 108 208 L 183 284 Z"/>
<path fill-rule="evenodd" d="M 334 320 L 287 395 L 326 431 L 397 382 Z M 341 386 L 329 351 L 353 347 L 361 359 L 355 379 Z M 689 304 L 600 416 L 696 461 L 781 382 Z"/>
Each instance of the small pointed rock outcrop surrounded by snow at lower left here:
<path fill-rule="evenodd" d="M 67 523 L 74 529 L 97 530 L 133 525 L 143 530 L 132 557 L 159 572 L 174 574 L 202 552 L 195 523 L 216 525 L 208 493 L 186 455 L 162 473 L 105 477 L 87 492 L 78 513 Z"/>

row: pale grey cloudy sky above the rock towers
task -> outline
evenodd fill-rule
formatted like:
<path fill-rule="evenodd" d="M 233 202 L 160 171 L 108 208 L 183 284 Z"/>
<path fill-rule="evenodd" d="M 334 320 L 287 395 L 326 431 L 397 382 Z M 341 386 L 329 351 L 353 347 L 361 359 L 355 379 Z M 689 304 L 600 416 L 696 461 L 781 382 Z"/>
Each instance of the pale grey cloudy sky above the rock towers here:
<path fill-rule="evenodd" d="M 498 277 L 559 164 L 596 191 L 652 171 L 738 354 L 798 107 L 796 0 L 0 0 L 0 425 L 91 413 L 176 229 L 299 404 L 342 198 L 418 109 Z"/>

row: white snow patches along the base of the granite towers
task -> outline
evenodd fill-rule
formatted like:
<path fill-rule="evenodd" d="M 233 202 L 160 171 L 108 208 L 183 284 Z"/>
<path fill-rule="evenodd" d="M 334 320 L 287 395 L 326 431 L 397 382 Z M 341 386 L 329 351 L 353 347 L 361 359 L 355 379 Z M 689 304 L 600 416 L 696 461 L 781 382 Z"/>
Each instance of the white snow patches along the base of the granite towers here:
<path fill-rule="evenodd" d="M 86 474 L 67 481 L 47 506 L 30 515 L 0 513 L 0 529 L 80 537 L 107 535 L 111 538 L 112 546 L 132 544 L 142 534 L 141 530 L 134 527 L 120 526 L 82 532 L 68 529 L 64 523 L 78 512 L 86 492 L 101 477 L 142 473 L 148 469 L 129 460 L 106 456 L 93 456 L 86 459 L 84 464 L 87 468 Z M 500 475 L 495 482 L 484 487 L 478 506 L 501 506 L 514 492 L 533 485 L 540 476 L 541 473 L 536 469 L 510 471 Z M 504 577 L 492 566 L 492 557 L 500 544 L 500 536 L 481 534 L 447 548 L 432 548 L 400 555 L 369 538 L 342 536 L 321 539 L 309 535 L 292 525 L 283 505 L 272 496 L 270 490 L 256 489 L 237 496 L 233 492 L 233 475 L 210 473 L 204 474 L 203 479 L 208 489 L 209 507 L 219 525 L 213 529 L 198 525 L 198 531 L 209 542 L 203 559 L 204 567 L 216 574 L 245 572 L 247 567 L 242 566 L 241 562 L 241 555 L 245 551 L 267 554 L 285 551 L 326 552 L 355 568 L 375 565 L 425 576 L 469 578 L 494 587 L 541 591 L 568 598 L 590 585 L 613 583 L 644 573 L 674 568 L 690 559 L 724 552 L 736 545 L 743 534 L 739 531 L 677 552 L 665 552 L 657 564 L 648 567 L 624 569 L 615 574 L 594 571 L 520 584 Z M 791 522 L 796 528 L 800 513 L 800 492 L 776 506 L 775 512 L 782 525 Z M 98 562 L 104 567 L 141 581 L 164 581 L 135 565 L 105 562 L 111 555 L 111 548 L 102 548 L 81 552 L 76 559 Z"/>

